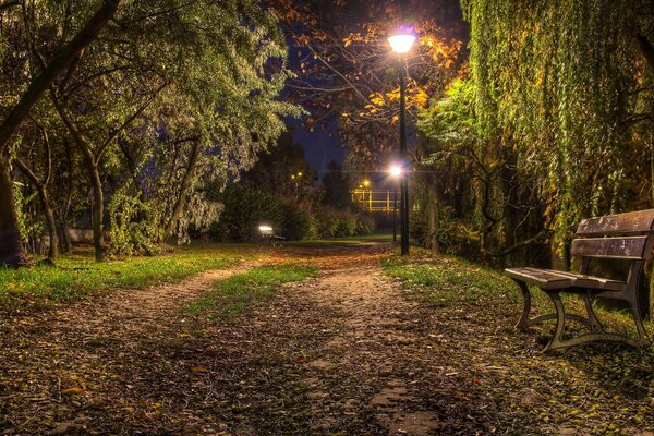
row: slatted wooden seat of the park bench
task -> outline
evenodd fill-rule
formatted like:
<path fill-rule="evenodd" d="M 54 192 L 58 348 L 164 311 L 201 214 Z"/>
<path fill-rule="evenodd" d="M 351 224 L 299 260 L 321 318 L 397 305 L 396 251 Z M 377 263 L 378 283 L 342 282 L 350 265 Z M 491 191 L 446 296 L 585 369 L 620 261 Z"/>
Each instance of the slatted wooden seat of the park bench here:
<path fill-rule="evenodd" d="M 627 282 L 611 280 L 603 277 L 586 276 L 583 274 L 557 271 L 538 268 L 508 268 L 505 269 L 511 278 L 535 284 L 544 290 L 566 288 L 588 288 L 597 290 L 625 291 Z"/>

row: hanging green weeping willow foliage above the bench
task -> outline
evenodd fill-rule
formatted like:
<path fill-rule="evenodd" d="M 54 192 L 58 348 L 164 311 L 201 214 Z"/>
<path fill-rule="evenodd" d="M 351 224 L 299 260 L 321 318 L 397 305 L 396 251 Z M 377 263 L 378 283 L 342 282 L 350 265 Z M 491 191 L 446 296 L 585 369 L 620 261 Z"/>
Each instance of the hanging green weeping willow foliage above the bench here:
<path fill-rule="evenodd" d="M 554 246 L 584 216 L 651 207 L 654 4 L 461 3 L 479 132 L 537 181 Z"/>

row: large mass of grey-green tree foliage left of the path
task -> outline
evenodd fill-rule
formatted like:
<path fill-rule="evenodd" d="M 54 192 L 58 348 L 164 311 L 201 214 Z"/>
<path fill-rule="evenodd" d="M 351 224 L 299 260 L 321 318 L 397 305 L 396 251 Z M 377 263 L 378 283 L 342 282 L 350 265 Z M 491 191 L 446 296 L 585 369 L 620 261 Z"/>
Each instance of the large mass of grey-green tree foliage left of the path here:
<path fill-rule="evenodd" d="M 95 3 L 3 8 L 5 111 Z M 287 55 L 277 19 L 256 1 L 122 2 L 111 25 L 56 77 L 49 101 L 34 108 L 14 158 L 45 182 L 66 226 L 88 222 L 90 198 L 94 231 L 102 234 L 101 208 L 112 207 L 120 221 L 114 253 L 169 237 L 186 242 L 191 225 L 206 229 L 221 208 L 205 195 L 206 182 L 225 184 L 251 168 L 274 147 L 283 117 L 302 113 L 279 99 L 291 76 Z M 52 189 L 56 182 L 65 189 Z M 124 197 L 113 202 L 114 193 Z M 38 209 L 34 215 L 40 218 Z"/>

